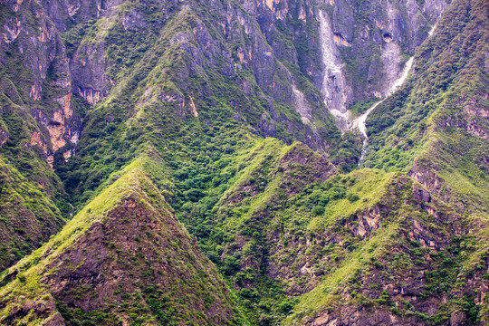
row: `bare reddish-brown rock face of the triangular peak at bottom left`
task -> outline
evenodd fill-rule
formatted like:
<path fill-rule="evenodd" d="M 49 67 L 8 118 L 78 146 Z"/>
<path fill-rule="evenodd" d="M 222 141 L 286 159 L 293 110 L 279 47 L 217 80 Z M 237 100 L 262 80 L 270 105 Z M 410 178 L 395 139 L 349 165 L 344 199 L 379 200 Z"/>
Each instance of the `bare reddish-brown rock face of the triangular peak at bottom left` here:
<path fill-rule="evenodd" d="M 194 240 L 174 216 L 167 214 L 158 216 L 141 206 L 137 197 L 125 198 L 105 221 L 95 222 L 76 244 L 58 255 L 47 266 L 53 273 L 40 283 L 59 302 L 83 312 L 117 313 L 110 307 L 123 302 L 133 304 L 133 296 L 141 295 L 149 313 L 157 309 L 197 309 L 202 313 L 188 322 L 228 323 L 235 312 L 225 305 L 230 301 L 225 284 Z M 177 262 L 181 254 L 184 261 Z M 201 279 L 191 281 L 199 273 Z M 185 298 L 185 307 L 178 307 L 177 292 Z M 208 293 L 216 293 L 218 299 L 205 302 Z M 163 306 L 152 306 L 154 300 L 160 300 Z M 167 321 L 177 318 L 174 313 Z"/>

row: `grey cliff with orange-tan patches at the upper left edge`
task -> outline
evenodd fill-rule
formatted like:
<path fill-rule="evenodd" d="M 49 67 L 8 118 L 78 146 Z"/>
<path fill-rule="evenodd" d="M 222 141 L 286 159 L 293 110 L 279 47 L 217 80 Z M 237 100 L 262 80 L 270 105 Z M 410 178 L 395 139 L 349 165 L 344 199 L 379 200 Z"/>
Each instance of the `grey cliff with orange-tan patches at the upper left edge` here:
<path fill-rule="evenodd" d="M 31 111 L 42 126 L 32 130 L 31 144 L 43 149 L 44 158 L 53 167 L 53 153 L 63 149 L 64 158 L 68 158 L 72 153 L 65 147 L 80 139 L 81 120 L 72 108 L 69 60 L 60 34 L 42 5 L 12 1 L 5 6 L 10 15 L 2 22 L 5 37 L 0 58 L 10 62 L 5 72 L 24 94 L 24 110 Z M 12 57 L 22 60 L 13 62 Z M 24 68 L 20 75 L 16 67 Z"/>

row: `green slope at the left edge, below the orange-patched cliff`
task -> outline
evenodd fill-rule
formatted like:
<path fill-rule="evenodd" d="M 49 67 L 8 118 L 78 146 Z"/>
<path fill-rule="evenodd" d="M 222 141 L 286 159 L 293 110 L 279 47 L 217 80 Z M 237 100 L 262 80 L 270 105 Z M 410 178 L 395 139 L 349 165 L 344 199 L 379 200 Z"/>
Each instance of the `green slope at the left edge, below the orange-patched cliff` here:
<path fill-rule="evenodd" d="M 0 270 L 59 231 L 71 210 L 46 161 L 47 142 L 22 101 L 14 101 L 0 94 Z"/>

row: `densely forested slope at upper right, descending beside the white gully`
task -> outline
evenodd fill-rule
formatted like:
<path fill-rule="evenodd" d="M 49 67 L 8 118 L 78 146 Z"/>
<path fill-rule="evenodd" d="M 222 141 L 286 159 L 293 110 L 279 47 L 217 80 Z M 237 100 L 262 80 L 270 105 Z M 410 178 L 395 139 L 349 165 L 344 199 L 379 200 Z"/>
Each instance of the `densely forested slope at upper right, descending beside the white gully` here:
<path fill-rule="evenodd" d="M 477 201 L 487 203 L 488 10 L 477 0 L 446 10 L 417 49 L 406 86 L 369 115 L 365 166 L 413 175 L 428 169 L 461 192 L 478 188 Z"/>

